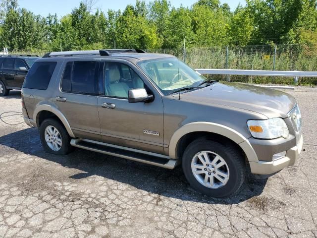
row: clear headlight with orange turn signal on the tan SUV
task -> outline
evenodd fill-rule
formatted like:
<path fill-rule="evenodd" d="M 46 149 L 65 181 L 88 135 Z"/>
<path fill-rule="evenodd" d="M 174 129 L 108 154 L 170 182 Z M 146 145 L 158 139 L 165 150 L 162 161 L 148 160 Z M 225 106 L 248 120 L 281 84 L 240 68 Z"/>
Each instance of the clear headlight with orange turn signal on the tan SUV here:
<path fill-rule="evenodd" d="M 251 135 L 258 139 L 286 138 L 289 133 L 285 121 L 281 118 L 248 120 L 247 124 Z"/>

